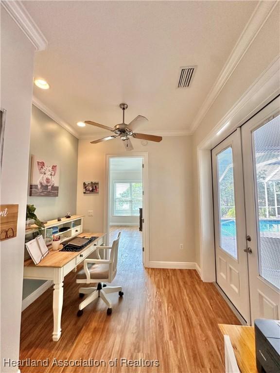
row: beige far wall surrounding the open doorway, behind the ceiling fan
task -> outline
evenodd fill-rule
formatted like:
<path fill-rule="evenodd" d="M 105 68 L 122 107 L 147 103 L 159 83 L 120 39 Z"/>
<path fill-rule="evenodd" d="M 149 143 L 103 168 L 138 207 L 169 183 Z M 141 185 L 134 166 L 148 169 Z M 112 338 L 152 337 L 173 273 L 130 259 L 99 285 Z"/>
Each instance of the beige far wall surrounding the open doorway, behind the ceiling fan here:
<path fill-rule="evenodd" d="M 192 136 L 163 137 L 147 146 L 132 142 L 135 152 L 149 153 L 150 261 L 193 262 Z M 88 231 L 104 230 L 105 154 L 123 150 L 119 139 L 95 145 L 79 141 L 77 213 L 94 210 L 84 220 Z M 83 195 L 84 180 L 99 181 L 99 194 Z"/>

